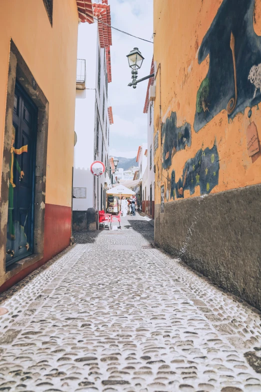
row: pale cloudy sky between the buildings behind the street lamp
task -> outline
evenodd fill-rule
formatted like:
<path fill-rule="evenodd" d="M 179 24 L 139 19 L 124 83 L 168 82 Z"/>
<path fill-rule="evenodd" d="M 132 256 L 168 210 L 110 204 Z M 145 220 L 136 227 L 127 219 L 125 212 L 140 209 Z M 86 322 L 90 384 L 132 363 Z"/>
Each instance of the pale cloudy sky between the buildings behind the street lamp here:
<path fill-rule="evenodd" d="M 153 0 L 109 0 L 111 26 L 134 36 L 152 41 Z M 145 58 L 138 72 L 138 79 L 149 75 L 153 45 L 119 33 L 113 29 L 111 56 L 111 77 L 108 95 L 112 106 L 114 124 L 110 126 L 110 155 L 133 158 L 138 146 L 146 142 L 146 114 L 143 114 L 147 81 L 136 89 L 128 87 L 131 70 L 126 55 L 138 48 Z"/>

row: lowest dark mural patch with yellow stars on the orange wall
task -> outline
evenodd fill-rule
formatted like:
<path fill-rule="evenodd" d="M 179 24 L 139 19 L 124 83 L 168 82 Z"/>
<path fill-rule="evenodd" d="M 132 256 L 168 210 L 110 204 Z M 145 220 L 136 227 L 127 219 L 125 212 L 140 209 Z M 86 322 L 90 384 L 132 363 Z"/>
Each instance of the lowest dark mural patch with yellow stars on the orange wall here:
<path fill-rule="evenodd" d="M 186 161 L 182 178 L 175 181 L 175 171 L 171 173 L 170 197 L 183 198 L 184 190 L 189 189 L 190 195 L 199 185 L 200 195 L 208 194 L 218 184 L 219 157 L 216 145 L 211 149 L 197 151 L 194 158 Z"/>

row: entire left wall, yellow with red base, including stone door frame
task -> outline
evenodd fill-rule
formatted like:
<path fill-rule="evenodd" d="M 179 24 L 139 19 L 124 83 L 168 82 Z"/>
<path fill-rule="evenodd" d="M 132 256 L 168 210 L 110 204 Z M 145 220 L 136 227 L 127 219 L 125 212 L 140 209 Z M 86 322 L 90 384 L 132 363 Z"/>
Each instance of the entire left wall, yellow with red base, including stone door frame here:
<path fill-rule="evenodd" d="M 52 25 L 42 0 L 0 4 L 0 291 L 69 245 L 77 28 L 75 0 L 53 2 Z M 5 270 L 5 185 L 8 190 L 16 78 L 38 112 L 34 253 Z"/>

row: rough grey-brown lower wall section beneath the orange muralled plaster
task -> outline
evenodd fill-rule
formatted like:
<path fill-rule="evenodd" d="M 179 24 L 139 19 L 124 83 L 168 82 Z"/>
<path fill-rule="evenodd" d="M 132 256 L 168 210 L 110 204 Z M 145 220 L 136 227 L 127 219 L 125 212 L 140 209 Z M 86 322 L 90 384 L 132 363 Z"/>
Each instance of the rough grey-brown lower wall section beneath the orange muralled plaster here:
<path fill-rule="evenodd" d="M 261 185 L 155 206 L 155 244 L 261 309 Z"/>

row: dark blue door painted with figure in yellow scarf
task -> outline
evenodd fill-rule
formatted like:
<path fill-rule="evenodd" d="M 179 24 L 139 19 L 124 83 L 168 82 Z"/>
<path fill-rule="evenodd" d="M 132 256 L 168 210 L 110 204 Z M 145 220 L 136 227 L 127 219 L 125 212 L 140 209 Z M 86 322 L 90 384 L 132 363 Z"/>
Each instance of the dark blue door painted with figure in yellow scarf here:
<path fill-rule="evenodd" d="M 33 195 L 37 110 L 16 83 L 9 164 L 6 266 L 33 252 Z"/>

